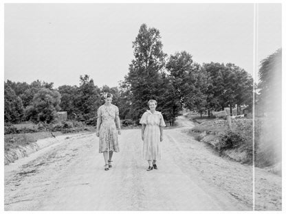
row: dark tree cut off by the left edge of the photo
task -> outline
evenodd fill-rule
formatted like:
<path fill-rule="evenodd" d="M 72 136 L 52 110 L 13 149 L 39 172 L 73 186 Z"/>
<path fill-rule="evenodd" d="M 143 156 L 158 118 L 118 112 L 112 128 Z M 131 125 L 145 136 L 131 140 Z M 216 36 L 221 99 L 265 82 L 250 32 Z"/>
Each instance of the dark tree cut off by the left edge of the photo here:
<path fill-rule="evenodd" d="M 4 83 L 4 121 L 18 123 L 23 118 L 23 103 L 9 84 Z"/>

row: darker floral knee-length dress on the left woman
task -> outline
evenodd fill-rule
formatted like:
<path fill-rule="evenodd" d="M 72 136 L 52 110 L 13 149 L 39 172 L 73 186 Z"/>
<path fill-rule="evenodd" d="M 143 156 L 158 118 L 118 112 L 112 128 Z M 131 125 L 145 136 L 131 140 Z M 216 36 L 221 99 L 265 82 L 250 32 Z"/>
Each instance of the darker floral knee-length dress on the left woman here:
<path fill-rule="evenodd" d="M 115 126 L 115 116 L 118 115 L 118 107 L 111 104 L 110 108 L 105 105 L 98 108 L 98 118 L 101 119 L 99 130 L 99 152 L 119 152 L 118 134 Z"/>

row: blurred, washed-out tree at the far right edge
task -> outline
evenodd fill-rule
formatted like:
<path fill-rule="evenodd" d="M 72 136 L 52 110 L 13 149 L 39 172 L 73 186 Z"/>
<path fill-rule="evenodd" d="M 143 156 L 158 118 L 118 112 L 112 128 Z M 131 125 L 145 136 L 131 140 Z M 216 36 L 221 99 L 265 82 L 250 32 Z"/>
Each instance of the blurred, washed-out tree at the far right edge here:
<path fill-rule="evenodd" d="M 282 49 L 261 61 L 259 69 L 259 108 L 264 108 L 259 151 L 269 165 L 281 162 L 282 144 Z M 258 157 L 259 158 L 259 157 Z"/>

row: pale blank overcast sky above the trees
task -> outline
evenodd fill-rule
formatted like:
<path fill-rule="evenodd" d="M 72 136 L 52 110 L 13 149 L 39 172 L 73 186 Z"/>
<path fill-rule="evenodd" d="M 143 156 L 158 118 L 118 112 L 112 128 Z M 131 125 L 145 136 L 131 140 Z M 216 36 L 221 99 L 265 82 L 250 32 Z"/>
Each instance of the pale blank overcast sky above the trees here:
<path fill-rule="evenodd" d="M 281 4 L 259 5 L 259 61 L 281 47 Z M 5 4 L 5 80 L 118 86 L 140 25 L 159 29 L 163 51 L 253 72 L 253 4 Z"/>

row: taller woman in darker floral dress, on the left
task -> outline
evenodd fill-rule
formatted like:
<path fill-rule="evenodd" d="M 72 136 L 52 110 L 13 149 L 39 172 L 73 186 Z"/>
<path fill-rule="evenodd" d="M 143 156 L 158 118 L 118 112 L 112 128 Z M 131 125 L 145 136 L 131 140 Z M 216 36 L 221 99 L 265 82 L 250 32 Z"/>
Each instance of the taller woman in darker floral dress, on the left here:
<path fill-rule="evenodd" d="M 118 134 L 121 134 L 119 111 L 117 106 L 111 104 L 112 97 L 111 93 L 104 93 L 105 103 L 98 108 L 96 124 L 96 136 L 99 137 L 99 152 L 103 153 L 104 170 L 106 171 L 112 167 L 111 158 L 113 152 L 119 152 Z"/>

